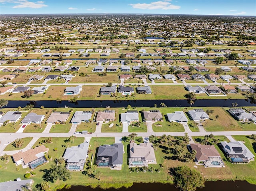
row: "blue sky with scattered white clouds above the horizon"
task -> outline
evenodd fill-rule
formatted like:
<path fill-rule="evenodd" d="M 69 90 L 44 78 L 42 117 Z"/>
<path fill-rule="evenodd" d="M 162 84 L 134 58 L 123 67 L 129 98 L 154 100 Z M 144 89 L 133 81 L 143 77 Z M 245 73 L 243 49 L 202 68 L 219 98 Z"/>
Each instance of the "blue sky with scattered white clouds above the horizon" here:
<path fill-rule="evenodd" d="M 256 16 L 256 0 L 0 0 L 0 14 L 79 13 Z"/>

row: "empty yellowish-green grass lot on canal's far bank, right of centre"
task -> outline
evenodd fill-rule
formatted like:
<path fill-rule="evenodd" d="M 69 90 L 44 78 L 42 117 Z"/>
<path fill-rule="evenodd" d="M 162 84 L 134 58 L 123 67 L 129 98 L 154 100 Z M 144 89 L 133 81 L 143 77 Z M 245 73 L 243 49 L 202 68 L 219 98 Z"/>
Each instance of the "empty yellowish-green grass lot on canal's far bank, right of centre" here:
<path fill-rule="evenodd" d="M 151 86 L 152 92 L 155 95 L 156 99 L 184 99 L 184 95 L 188 93 L 184 89 L 183 85 L 153 85 Z"/>

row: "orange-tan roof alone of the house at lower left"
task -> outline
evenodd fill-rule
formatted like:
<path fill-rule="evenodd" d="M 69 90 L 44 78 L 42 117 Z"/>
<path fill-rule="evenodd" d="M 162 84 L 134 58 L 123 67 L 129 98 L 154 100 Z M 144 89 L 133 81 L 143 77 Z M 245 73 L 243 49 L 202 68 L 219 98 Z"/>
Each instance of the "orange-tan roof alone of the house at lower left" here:
<path fill-rule="evenodd" d="M 34 149 L 30 149 L 28 151 L 25 152 L 18 152 L 14 155 L 12 155 L 12 158 L 14 159 L 14 161 L 18 161 L 20 159 L 23 159 L 24 163 L 30 163 L 32 161 L 34 161 L 35 159 L 38 159 L 38 157 L 36 156 L 37 154 L 41 153 L 41 152 L 47 152 L 47 149 L 44 145 L 41 145 L 39 147 L 36 147 Z"/>

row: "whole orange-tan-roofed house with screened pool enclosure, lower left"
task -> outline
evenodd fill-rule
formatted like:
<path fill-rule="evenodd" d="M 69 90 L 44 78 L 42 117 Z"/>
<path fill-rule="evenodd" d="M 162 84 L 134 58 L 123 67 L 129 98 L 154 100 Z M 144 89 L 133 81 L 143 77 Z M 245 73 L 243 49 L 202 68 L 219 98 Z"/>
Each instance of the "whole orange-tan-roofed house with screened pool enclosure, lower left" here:
<path fill-rule="evenodd" d="M 44 145 L 41 145 L 25 152 L 17 152 L 16 154 L 12 155 L 12 159 L 16 165 L 22 164 L 22 167 L 30 167 L 31 169 L 35 169 L 39 165 L 47 162 L 44 153 L 47 153 L 48 150 L 49 149 Z"/>

